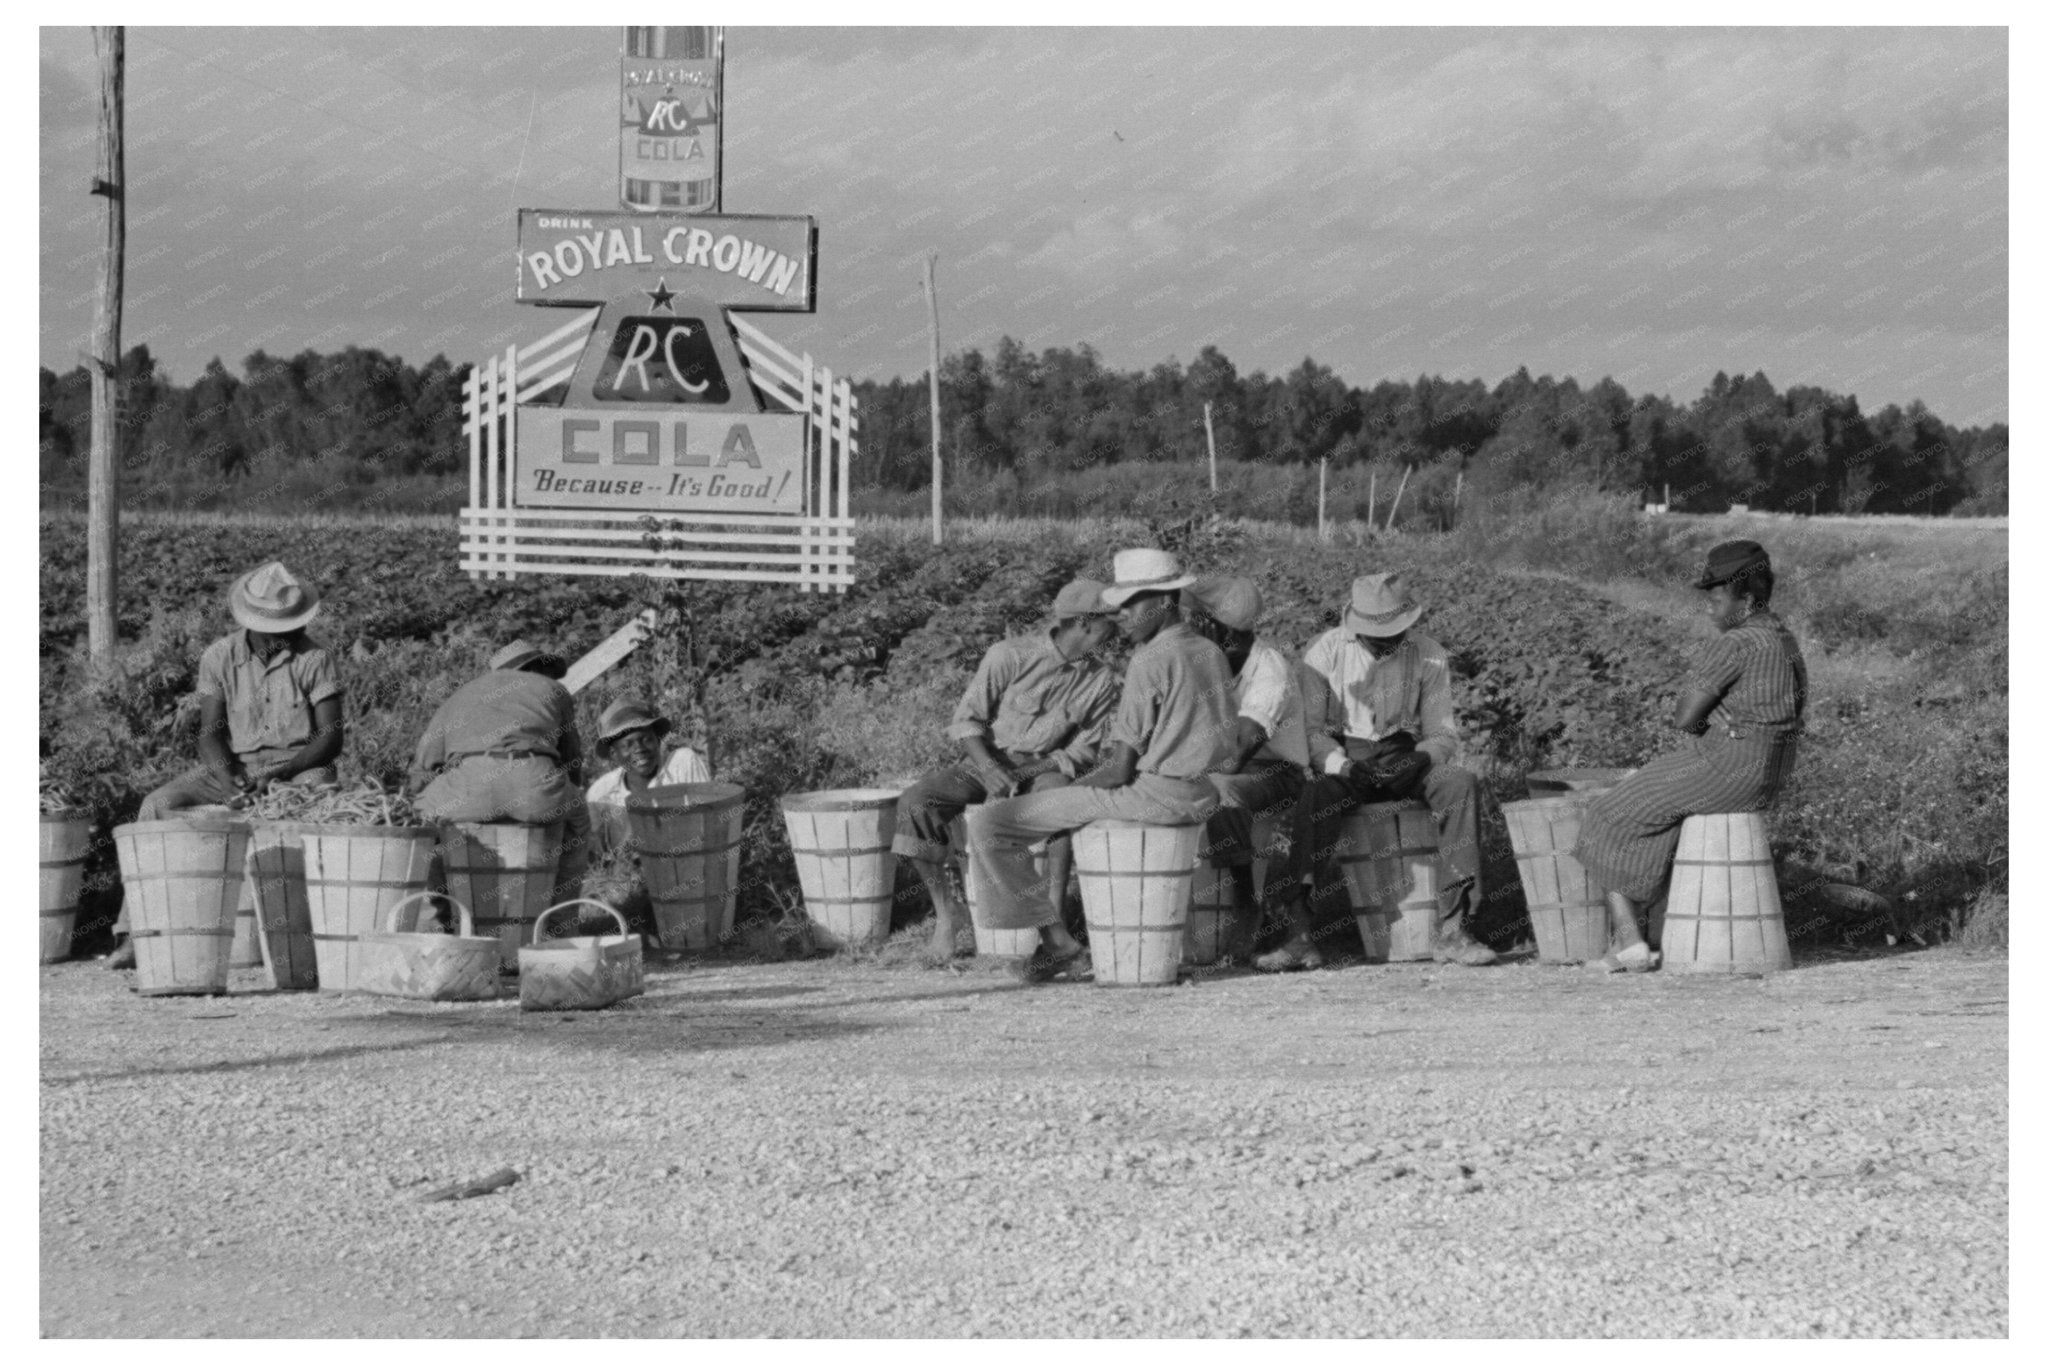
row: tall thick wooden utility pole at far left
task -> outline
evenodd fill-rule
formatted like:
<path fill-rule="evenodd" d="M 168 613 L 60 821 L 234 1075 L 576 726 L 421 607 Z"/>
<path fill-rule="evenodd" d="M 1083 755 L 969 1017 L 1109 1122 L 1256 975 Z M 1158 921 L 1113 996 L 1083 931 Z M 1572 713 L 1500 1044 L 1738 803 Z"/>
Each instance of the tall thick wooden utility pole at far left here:
<path fill-rule="evenodd" d="M 92 454 L 86 471 L 86 649 L 94 665 L 115 657 L 115 593 L 121 569 L 121 272 L 127 256 L 121 100 L 127 31 L 94 27 L 100 57 L 100 162 L 92 192 L 106 201 L 106 254 L 92 315 Z"/>

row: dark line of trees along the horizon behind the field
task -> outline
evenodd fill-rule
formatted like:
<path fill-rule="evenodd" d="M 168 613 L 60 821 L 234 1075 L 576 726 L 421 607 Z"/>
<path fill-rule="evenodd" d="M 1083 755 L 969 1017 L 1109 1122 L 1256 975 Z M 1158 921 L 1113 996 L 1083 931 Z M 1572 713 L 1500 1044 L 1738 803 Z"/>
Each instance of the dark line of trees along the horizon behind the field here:
<path fill-rule="evenodd" d="M 127 485 L 240 487 L 317 469 L 326 479 L 457 481 L 467 469 L 467 364 L 414 368 L 377 350 L 256 352 L 229 372 L 219 358 L 190 385 L 166 377 L 145 346 L 123 356 L 121 458 Z M 928 379 L 858 381 L 856 487 L 930 483 Z M 1853 395 L 1776 389 L 1757 375 L 1716 375 L 1692 403 L 1630 395 L 1612 379 L 1348 385 L 1303 358 L 1282 377 L 1239 375 L 1217 348 L 1188 364 L 1112 370 L 1092 346 L 1030 352 L 1012 338 L 993 356 L 940 362 L 948 477 L 1042 485 L 1133 460 L 1202 460 L 1204 403 L 1219 463 L 1366 467 L 1413 477 L 1417 495 L 1591 483 L 1683 512 L 1731 503 L 1817 514 L 2003 514 L 2007 424 L 1958 430 L 1925 403 L 1862 411 Z M 41 370 L 39 467 L 45 499 L 84 487 L 90 391 L 84 366 Z"/>

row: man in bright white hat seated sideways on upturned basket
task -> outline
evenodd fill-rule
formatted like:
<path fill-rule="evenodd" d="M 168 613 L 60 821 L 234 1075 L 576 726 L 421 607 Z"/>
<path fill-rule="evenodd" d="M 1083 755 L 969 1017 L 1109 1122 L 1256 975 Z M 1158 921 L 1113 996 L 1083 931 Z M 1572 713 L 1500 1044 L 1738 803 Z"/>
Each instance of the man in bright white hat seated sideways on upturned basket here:
<path fill-rule="evenodd" d="M 987 804 L 969 825 L 991 929 L 1038 929 L 1038 950 L 1018 962 L 1028 982 L 1051 980 L 1081 945 L 1047 905 L 1030 845 L 1090 821 L 1200 825 L 1217 804 L 1210 774 L 1237 755 L 1231 665 L 1180 620 L 1180 589 L 1194 583 L 1165 551 L 1116 551 L 1116 583 L 1102 600 L 1137 643 L 1102 761 L 1073 786 Z"/>

